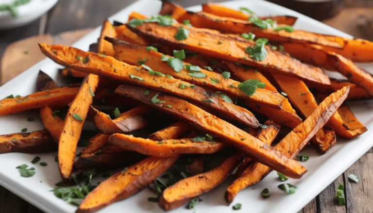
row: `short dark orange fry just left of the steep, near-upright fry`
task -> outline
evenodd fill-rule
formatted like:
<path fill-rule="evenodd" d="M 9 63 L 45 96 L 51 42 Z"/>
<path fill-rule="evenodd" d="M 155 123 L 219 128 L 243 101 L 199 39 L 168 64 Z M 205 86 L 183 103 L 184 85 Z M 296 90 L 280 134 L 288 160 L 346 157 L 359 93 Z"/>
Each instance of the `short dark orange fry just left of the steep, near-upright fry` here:
<path fill-rule="evenodd" d="M 44 127 L 49 131 L 53 140 L 58 143 L 61 131 L 64 127 L 64 120 L 55 115 L 49 106 L 44 106 L 39 110 L 40 120 Z"/>

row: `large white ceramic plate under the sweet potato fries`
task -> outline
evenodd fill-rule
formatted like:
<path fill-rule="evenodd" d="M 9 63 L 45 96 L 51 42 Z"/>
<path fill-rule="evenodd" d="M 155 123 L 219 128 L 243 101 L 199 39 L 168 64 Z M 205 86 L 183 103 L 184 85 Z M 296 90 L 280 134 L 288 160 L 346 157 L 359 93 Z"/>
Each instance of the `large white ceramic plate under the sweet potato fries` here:
<path fill-rule="evenodd" d="M 318 21 L 266 1 L 238 0 L 228 1 L 224 4 L 234 8 L 245 6 L 251 8 L 258 15 L 287 14 L 298 16 L 299 19 L 294 26 L 295 28 L 350 37 L 349 35 L 330 28 Z M 110 21 L 118 20 L 125 22 L 128 14 L 132 10 L 136 10 L 148 16 L 156 15 L 159 8 L 160 1 L 139 0 L 123 9 L 118 14 L 112 16 Z M 189 9 L 198 11 L 201 7 L 196 6 Z M 96 42 L 99 33 L 100 28 L 87 34 L 83 39 L 77 42 L 74 47 L 87 50 L 90 43 Z M 57 82 L 63 82 L 56 72 L 57 67 L 60 66 L 53 63 L 50 59 L 39 62 L 27 71 L 18 75 L 15 79 L 1 86 L 0 94 L 2 97 L 0 98 L 4 98 L 10 94 L 19 94 L 23 96 L 34 92 L 37 73 L 40 69 L 48 73 Z M 364 67 L 370 72 L 373 71 L 372 64 L 366 64 Z M 224 201 L 224 192 L 229 180 L 225 181 L 216 189 L 201 196 L 203 201 L 197 204 L 195 209 L 196 212 L 236 213 L 237 211 L 232 210 L 232 205 L 236 203 L 242 204 L 242 209 L 239 212 L 296 213 L 301 210 L 311 199 L 316 197 L 326 186 L 333 182 L 341 173 L 343 173 L 343 171 L 345 171 L 373 146 L 373 140 L 371 139 L 373 136 L 373 131 L 371 131 L 373 126 L 373 101 L 355 101 L 351 102 L 350 106 L 356 117 L 366 125 L 370 131 L 349 141 L 338 138 L 337 145 L 332 147 L 324 155 L 319 155 L 312 148 L 304 150 L 304 153 L 307 153 L 310 156 L 309 161 L 302 163 L 308 169 L 308 172 L 302 177 L 302 179 L 291 179 L 286 181 L 286 183 L 291 183 L 298 187 L 295 194 L 286 195 L 283 191 L 280 191 L 277 188 L 277 185 L 283 182 L 277 180 L 277 174 L 272 172 L 261 182 L 242 190 L 230 206 L 228 206 Z M 27 121 L 27 117 L 30 116 L 37 117 L 37 114 L 34 112 L 25 112 L 17 115 L 1 116 L 0 126 L 2 128 L 0 129 L 0 134 L 19 132 L 23 128 L 28 128 L 28 131 L 42 129 L 43 127 L 39 120 L 34 122 Z M 1 154 L 0 184 L 45 212 L 73 213 L 76 210 L 75 206 L 69 205 L 65 201 L 55 197 L 53 193 L 50 192 L 50 190 L 54 188 L 54 184 L 60 181 L 57 163 L 54 162 L 55 154 L 56 153 Z M 36 155 L 41 157 L 41 161 L 47 162 L 48 166 L 42 167 L 37 164 L 32 165 L 30 162 Z M 36 174 L 31 178 L 21 177 L 16 169 L 16 166 L 21 164 L 34 166 L 36 168 Z M 260 196 L 260 193 L 264 188 L 269 188 L 271 192 L 271 197 L 268 199 L 263 199 Z M 119 201 L 98 211 L 98 213 L 163 213 L 164 211 L 160 209 L 156 203 L 147 201 L 148 197 L 154 197 L 154 194 L 148 189 L 145 189 L 133 197 Z M 187 210 L 184 207 L 180 207 L 170 212 L 191 213 L 193 210 Z"/>

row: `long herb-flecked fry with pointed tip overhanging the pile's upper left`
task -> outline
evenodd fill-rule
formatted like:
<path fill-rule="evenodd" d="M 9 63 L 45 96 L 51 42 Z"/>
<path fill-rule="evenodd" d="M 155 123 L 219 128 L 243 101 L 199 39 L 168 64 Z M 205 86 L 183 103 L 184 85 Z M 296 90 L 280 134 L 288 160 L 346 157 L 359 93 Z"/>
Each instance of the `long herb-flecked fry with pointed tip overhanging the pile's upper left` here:
<path fill-rule="evenodd" d="M 235 116 L 236 119 L 240 119 L 249 126 L 258 126 L 256 118 L 252 116 L 250 111 L 244 110 L 243 108 L 237 110 L 237 107 L 234 106 L 234 104 L 226 102 L 215 94 L 208 94 L 201 87 L 194 85 L 190 86 L 188 82 L 169 78 L 164 74 L 159 76 L 152 75 L 143 67 L 131 66 L 115 60 L 110 56 L 102 56 L 66 46 L 51 46 L 47 44 L 39 45 L 44 54 L 51 57 L 59 64 L 71 66 L 81 71 L 102 75 L 131 84 L 148 86 L 180 97 L 190 98 L 191 100 L 203 104 L 204 106 L 211 107 L 214 110 L 226 114 L 229 113 L 229 115 Z M 58 54 L 54 54 L 54 52 L 57 52 Z M 89 61 L 87 63 L 82 63 L 78 58 L 89 59 Z M 182 84 L 185 86 L 182 87 Z M 211 98 L 213 101 L 203 101 L 208 98 Z"/>

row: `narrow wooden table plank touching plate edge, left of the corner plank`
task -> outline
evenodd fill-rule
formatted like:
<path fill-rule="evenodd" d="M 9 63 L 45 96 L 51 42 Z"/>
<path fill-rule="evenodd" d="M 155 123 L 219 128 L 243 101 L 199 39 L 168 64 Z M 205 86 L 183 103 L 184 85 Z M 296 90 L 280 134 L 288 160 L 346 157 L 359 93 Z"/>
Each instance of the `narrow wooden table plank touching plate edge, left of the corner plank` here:
<path fill-rule="evenodd" d="M 336 204 L 339 183 L 344 184 L 343 175 L 340 175 L 319 194 L 319 213 L 346 213 L 345 206 L 338 206 Z"/>

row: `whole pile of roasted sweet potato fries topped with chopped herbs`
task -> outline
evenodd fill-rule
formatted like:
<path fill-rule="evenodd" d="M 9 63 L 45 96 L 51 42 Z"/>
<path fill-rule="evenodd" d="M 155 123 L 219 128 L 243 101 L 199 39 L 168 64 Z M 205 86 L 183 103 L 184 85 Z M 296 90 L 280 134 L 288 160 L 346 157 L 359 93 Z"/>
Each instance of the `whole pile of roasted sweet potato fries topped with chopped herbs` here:
<path fill-rule="evenodd" d="M 83 82 L 59 87 L 40 74 L 40 92 L 0 100 L 0 115 L 39 109 L 45 126 L 2 135 L 1 153 L 58 147 L 66 182 L 75 170 L 125 167 L 90 192 L 77 212 L 137 193 L 181 155 L 196 156 L 197 166 L 159 195 L 163 209 L 183 205 L 236 171 L 225 194 L 231 203 L 272 170 L 301 178 L 306 168 L 295 157 L 309 141 L 324 153 L 336 135 L 355 138 L 367 131 L 343 102 L 372 98 L 373 77 L 354 62 L 373 62 L 373 42 L 294 30 L 295 17 L 250 16 L 216 4 L 194 13 L 163 1 L 160 15 L 133 12 L 115 26 L 105 20 L 95 52 L 39 44 L 66 66 L 62 75 Z M 330 79 L 323 69 L 348 81 Z M 56 115 L 67 106 L 65 118 Z M 104 111 L 115 108 L 112 116 Z M 154 120 L 163 117 L 173 124 L 157 126 Z M 85 121 L 100 133 L 75 161 Z M 283 137 L 277 136 L 281 127 L 290 128 Z M 133 135 L 144 128 L 153 132 Z M 217 167 L 200 169 L 201 156 L 232 148 L 235 153 Z"/>

